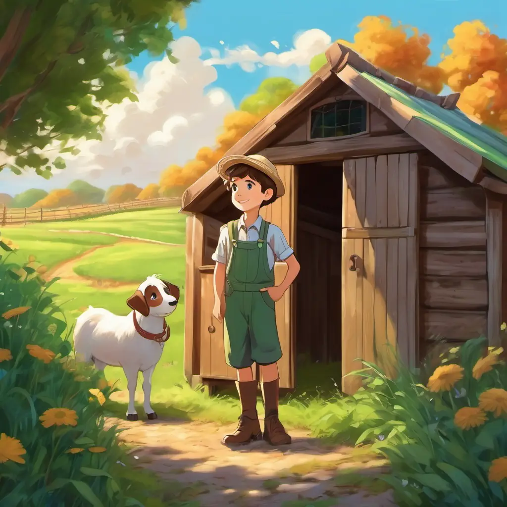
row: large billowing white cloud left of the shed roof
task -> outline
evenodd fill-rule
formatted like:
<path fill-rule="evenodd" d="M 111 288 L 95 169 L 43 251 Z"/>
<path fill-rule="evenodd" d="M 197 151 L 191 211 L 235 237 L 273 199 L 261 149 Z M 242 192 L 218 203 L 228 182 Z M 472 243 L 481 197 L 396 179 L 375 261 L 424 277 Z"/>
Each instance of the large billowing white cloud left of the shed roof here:
<path fill-rule="evenodd" d="M 33 170 L 19 176 L 0 172 L 2 192 L 63 188 L 78 178 L 104 189 L 119 183 L 144 187 L 158 183 L 168 165 L 182 165 L 199 148 L 213 146 L 225 115 L 234 111 L 233 101 L 220 88 L 204 91 L 217 74 L 201 59 L 197 41 L 182 37 L 172 52 L 178 63 L 164 57 L 145 67 L 136 83 L 138 102 L 108 107 L 102 141 L 78 143 L 81 153 L 66 155 L 67 168 L 55 170 L 50 180 Z"/>

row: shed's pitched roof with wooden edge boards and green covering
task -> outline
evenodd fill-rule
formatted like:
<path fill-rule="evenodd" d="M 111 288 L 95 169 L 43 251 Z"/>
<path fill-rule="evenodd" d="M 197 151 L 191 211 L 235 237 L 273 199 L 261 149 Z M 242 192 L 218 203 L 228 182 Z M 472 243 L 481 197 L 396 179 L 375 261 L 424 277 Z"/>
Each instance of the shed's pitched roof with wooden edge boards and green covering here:
<path fill-rule="evenodd" d="M 435 95 L 380 69 L 350 48 L 335 43 L 326 51 L 328 63 L 247 132 L 226 155 L 247 155 L 266 147 L 277 127 L 301 110 L 331 77 L 356 93 L 426 149 L 470 182 L 507 194 L 507 185 L 485 175 L 483 168 L 507 181 L 507 138 L 456 108 L 459 93 Z M 213 166 L 184 193 L 182 211 L 201 211 L 223 192 Z M 206 196 L 207 189 L 212 195 Z"/>

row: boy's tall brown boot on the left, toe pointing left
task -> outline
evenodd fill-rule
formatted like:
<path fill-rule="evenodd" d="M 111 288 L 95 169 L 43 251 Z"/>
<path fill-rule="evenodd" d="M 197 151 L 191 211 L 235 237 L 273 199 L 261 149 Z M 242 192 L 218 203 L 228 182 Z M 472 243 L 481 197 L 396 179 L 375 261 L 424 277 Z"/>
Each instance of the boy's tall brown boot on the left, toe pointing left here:
<path fill-rule="evenodd" d="M 241 415 L 239 424 L 234 433 L 226 435 L 222 444 L 244 445 L 254 440 L 262 439 L 261 425 L 257 415 L 257 387 L 259 382 L 251 380 L 249 382 L 236 381 L 236 388 L 241 402 Z"/>

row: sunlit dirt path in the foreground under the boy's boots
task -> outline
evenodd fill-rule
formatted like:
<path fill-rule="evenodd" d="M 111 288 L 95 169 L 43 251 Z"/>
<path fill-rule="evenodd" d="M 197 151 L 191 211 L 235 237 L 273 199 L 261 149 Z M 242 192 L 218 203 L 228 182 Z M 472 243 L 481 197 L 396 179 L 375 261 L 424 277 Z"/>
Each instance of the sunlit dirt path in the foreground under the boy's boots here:
<path fill-rule="evenodd" d="M 255 442 L 232 450 L 221 440 L 235 424 L 117 418 L 108 418 L 106 424 L 124 429 L 120 438 L 134 445 L 131 453 L 140 466 L 168 483 L 183 484 L 185 499 L 203 506 L 280 506 L 294 500 L 302 501 L 301 507 L 314 502 L 315 507 L 395 505 L 390 491 L 377 494 L 379 489 L 373 489 L 374 475 L 386 472 L 384 461 L 349 447 L 325 447 L 302 430 L 291 431 L 291 446 Z M 364 478 L 362 485 L 358 475 Z"/>

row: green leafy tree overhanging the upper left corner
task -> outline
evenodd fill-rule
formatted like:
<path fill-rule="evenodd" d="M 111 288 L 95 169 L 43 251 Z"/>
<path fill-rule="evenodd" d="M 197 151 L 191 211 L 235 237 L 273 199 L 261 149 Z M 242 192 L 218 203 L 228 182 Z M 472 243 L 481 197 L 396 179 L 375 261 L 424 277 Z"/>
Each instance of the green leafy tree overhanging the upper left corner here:
<path fill-rule="evenodd" d="M 192 1 L 0 2 L 0 170 L 49 178 L 65 162 L 45 149 L 100 139 L 104 106 L 137 100 L 124 65 L 145 50 L 174 60 L 170 23 Z"/>

